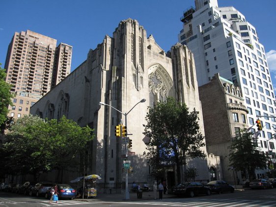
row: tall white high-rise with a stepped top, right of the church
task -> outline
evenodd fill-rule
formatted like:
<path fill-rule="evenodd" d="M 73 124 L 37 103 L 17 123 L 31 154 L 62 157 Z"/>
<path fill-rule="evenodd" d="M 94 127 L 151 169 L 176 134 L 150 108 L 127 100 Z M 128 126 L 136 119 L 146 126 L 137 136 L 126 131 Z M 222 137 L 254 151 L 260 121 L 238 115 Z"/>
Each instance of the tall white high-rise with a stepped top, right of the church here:
<path fill-rule="evenodd" d="M 247 124 L 254 125 L 257 116 L 265 116 L 260 117 L 263 130 L 258 145 L 276 163 L 276 141 L 272 139 L 276 119 L 269 117 L 275 114 L 275 95 L 256 28 L 233 6 L 219 7 L 217 0 L 195 0 L 195 5 L 184 11 L 178 38 L 193 52 L 198 86 L 209 83 L 216 73 L 238 86 L 248 109 Z M 243 120 L 232 116 L 236 122 Z M 263 177 L 268 169 L 258 170 L 256 176 Z"/>

